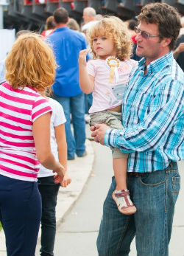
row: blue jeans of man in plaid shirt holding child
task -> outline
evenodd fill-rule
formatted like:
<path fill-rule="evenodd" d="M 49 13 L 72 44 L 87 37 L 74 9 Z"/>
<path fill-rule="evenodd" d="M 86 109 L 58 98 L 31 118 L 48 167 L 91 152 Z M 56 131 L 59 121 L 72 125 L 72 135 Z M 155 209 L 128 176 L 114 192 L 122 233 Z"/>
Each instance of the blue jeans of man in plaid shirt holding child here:
<path fill-rule="evenodd" d="M 123 215 L 118 211 L 112 198 L 116 188 L 113 178 L 97 238 L 99 255 L 128 256 L 135 237 L 138 256 L 168 256 L 174 205 L 180 191 L 177 162 L 144 176 L 127 176 L 127 187 L 137 212 Z"/>

